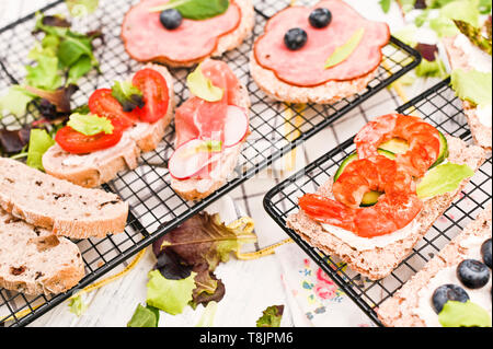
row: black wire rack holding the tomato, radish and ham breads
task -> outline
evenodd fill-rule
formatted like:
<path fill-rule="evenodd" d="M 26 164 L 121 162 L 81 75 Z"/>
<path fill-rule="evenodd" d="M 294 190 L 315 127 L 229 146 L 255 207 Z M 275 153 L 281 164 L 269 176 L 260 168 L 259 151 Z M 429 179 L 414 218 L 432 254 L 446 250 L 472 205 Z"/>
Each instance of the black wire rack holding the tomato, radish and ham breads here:
<path fill-rule="evenodd" d="M 125 79 L 140 67 L 140 63 L 127 56 L 119 38 L 119 24 L 123 16 L 137 2 L 138 0 L 102 0 L 94 14 L 73 19 L 76 31 L 88 32 L 102 28 L 104 33 L 104 45 L 95 50 L 103 73 L 91 73 L 80 80 L 80 90 L 73 96 L 74 105 L 87 103 L 92 91 L 107 88 L 114 80 Z M 314 4 L 317 1 L 299 2 Z M 94 282 L 150 245 L 159 236 L 202 211 L 210 202 L 254 176 L 325 126 L 388 86 L 421 61 L 421 57 L 415 50 L 392 37 L 383 48 L 383 62 L 376 77 L 360 94 L 333 105 L 306 105 L 302 110 L 268 100 L 250 77 L 250 53 L 254 39 L 263 33 L 266 20 L 288 4 L 288 0 L 254 1 L 256 25 L 253 35 L 239 48 L 227 53 L 222 58 L 246 85 L 252 100 L 251 135 L 229 182 L 199 202 L 185 201 L 177 196 L 170 187 L 167 170 L 167 160 L 173 151 L 174 130 L 171 126 L 158 149 L 141 156 L 137 170 L 121 173 L 115 181 L 103 186 L 104 189 L 118 194 L 129 203 L 128 225 L 125 232 L 118 235 L 77 242 L 85 263 L 87 276 L 76 289 Z M 62 0 L 47 5 L 41 12 L 68 15 Z M 25 73 L 23 67 L 28 63 L 27 53 L 34 45 L 31 33 L 34 23 L 33 13 L 0 30 L 0 43 L 2 43 L 0 45 L 2 45 L 3 53 L 0 60 L 0 91 L 23 81 Z M 173 69 L 171 72 L 175 78 L 175 93 L 180 104 L 187 97 L 185 78 L 190 70 Z M 285 119 L 285 115 L 288 113 L 294 116 L 291 119 Z M 30 115 L 22 119 L 5 116 L 0 123 L 8 128 L 15 128 L 30 120 Z M 24 326 L 67 300 L 73 291 L 56 296 L 27 298 L 21 293 L 0 289 L 0 326 Z M 16 316 L 15 314 L 21 311 L 30 313 L 22 317 Z"/>

